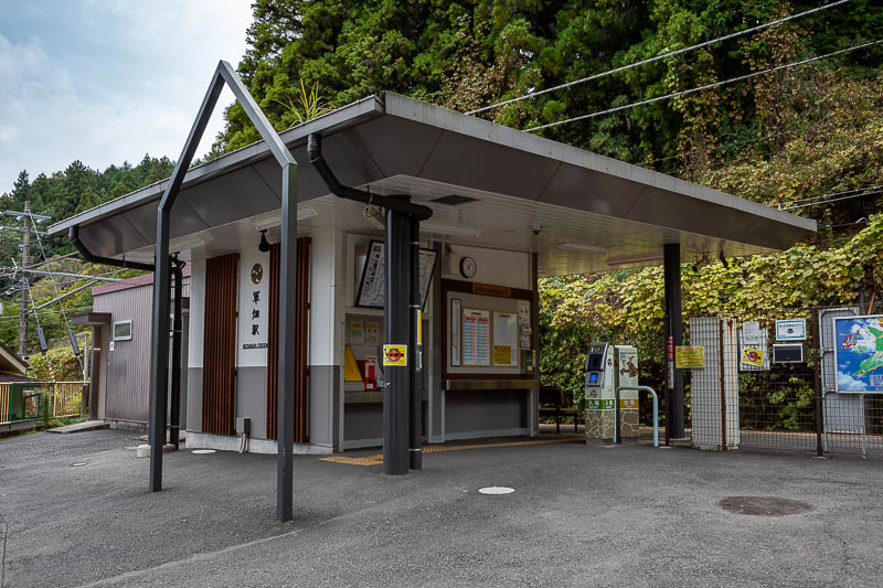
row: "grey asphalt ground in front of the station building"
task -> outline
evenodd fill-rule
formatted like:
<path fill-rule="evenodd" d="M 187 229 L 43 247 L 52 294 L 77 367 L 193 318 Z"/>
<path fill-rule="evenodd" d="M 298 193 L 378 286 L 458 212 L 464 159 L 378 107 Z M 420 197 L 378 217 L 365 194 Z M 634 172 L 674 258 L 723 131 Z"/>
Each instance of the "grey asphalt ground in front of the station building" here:
<path fill-rule="evenodd" d="M 883 581 L 880 461 L 562 442 L 430 453 L 389 478 L 305 456 L 296 518 L 276 523 L 273 456 L 167 453 L 150 493 L 134 437 L 0 441 L 3 588 Z M 743 495 L 811 510 L 719 505 Z"/>

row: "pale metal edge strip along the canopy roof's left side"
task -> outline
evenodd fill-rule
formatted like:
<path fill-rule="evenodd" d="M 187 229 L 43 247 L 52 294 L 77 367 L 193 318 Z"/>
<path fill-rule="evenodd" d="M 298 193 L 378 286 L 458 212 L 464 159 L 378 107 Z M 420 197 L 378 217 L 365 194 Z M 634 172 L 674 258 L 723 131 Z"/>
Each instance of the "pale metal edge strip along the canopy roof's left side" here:
<path fill-rule="evenodd" d="M 353 124 L 353 121 L 359 120 L 362 117 L 382 115 L 383 113 L 383 96 L 372 95 L 368 96 L 366 98 L 362 98 L 361 100 L 348 104 L 347 106 L 341 106 L 340 108 L 308 120 L 307 122 L 298 125 L 297 127 L 286 129 L 281 131 L 279 136 L 286 146 L 290 146 L 290 143 L 298 142 L 300 140 L 306 141 L 306 138 L 310 132 L 336 132 L 341 128 L 349 127 L 351 124 Z M 270 157 L 273 157 L 273 154 L 263 139 L 245 147 L 241 147 L 235 151 L 231 151 L 230 153 L 221 156 L 217 159 L 213 159 L 212 161 L 208 161 L 201 165 L 188 170 L 182 184 L 182 190 Z M 117 214 L 135 206 L 139 206 L 146 202 L 150 202 L 151 200 L 159 200 L 168 185 L 169 178 L 166 178 L 164 180 L 160 180 L 159 182 L 152 183 L 136 190 L 135 192 L 116 197 L 105 202 L 104 204 L 99 204 L 94 209 L 89 209 L 79 214 L 71 216 L 70 218 L 65 218 L 64 221 L 50 225 L 46 228 L 46 233 L 49 233 L 50 236 L 64 235 L 67 229 L 74 225 L 88 224 L 99 221 L 111 214 Z"/>

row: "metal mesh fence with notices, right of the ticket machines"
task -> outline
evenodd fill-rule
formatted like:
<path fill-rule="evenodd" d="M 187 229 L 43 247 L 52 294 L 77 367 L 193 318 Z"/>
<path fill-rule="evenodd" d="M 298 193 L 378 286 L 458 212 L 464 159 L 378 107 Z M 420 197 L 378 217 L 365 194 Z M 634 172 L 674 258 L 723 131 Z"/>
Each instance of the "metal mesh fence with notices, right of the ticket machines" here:
<path fill-rule="evenodd" d="M 691 443 L 883 458 L 883 395 L 838 393 L 836 382 L 843 376 L 832 319 L 870 313 L 855 306 L 788 309 L 754 322 L 691 319 L 690 343 L 705 348 L 705 367 L 685 378 Z M 806 339 L 791 342 L 802 357 L 792 363 L 773 359 L 776 319 L 806 319 Z"/>

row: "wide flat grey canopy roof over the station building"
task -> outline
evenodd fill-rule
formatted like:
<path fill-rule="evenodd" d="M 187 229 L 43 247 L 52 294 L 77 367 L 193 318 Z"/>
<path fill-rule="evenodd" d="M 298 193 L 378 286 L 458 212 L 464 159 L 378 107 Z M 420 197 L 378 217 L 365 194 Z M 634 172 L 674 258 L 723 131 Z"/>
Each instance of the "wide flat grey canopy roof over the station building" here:
<path fill-rule="evenodd" d="M 680 243 L 685 261 L 785 249 L 816 229 L 815 221 L 385 93 L 281 133 L 299 163 L 302 234 L 375 229 L 362 205 L 331 195 L 309 164 L 311 132 L 325 138 L 342 183 L 430 206 L 434 216 L 422 225 L 427 237 L 536 252 L 547 276 L 660 263 L 666 243 Z M 167 183 L 49 232 L 78 225 L 94 254 L 150 261 Z M 279 217 L 280 202 L 280 171 L 263 141 L 194 168 L 172 210 L 171 250 L 215 255 L 254 245 L 257 229 Z"/>

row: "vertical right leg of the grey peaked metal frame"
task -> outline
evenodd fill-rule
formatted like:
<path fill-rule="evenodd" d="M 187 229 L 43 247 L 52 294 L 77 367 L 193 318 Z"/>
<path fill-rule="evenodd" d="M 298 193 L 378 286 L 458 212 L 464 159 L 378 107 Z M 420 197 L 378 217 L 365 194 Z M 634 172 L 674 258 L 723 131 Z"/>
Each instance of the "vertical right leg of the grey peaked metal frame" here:
<path fill-rule="evenodd" d="M 294 518 L 295 370 L 297 366 L 297 165 L 283 167 L 279 254 L 279 384 L 276 397 L 276 518 Z"/>

